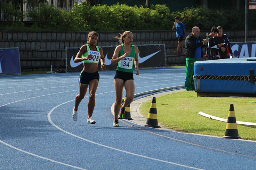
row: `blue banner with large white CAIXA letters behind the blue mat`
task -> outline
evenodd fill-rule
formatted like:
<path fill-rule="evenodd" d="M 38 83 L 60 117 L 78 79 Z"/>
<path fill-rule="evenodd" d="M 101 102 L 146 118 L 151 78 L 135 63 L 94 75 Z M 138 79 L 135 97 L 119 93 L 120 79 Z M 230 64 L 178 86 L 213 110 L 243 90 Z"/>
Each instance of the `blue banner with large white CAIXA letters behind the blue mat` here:
<path fill-rule="evenodd" d="M 230 43 L 230 47 L 236 58 L 255 57 L 256 43 Z"/>

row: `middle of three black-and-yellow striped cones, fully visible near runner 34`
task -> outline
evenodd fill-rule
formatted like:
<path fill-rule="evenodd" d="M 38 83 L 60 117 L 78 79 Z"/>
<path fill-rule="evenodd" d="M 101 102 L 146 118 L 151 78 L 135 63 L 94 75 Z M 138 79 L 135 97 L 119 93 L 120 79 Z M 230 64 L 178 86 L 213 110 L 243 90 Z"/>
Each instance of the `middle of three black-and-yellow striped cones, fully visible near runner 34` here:
<path fill-rule="evenodd" d="M 148 120 L 144 126 L 160 128 L 157 122 L 157 114 L 156 114 L 156 97 L 153 97 L 151 106 L 148 113 Z"/>

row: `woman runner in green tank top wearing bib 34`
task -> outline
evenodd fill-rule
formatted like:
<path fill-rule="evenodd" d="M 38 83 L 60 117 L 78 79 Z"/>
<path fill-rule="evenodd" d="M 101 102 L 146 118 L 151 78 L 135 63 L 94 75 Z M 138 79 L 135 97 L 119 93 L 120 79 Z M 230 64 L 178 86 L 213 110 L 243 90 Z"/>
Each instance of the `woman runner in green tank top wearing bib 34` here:
<path fill-rule="evenodd" d="M 121 35 L 121 34 L 120 34 Z M 121 43 L 117 46 L 114 55 L 111 60 L 111 64 L 118 63 L 116 68 L 116 74 L 114 78 L 114 85 L 116 90 L 116 102 L 115 102 L 115 117 L 113 126 L 118 127 L 118 113 L 122 103 L 123 88 L 126 90 L 126 100 L 124 101 L 120 117 L 125 115 L 125 107 L 132 103 L 134 98 L 134 80 L 133 80 L 133 64 L 135 66 L 136 75 L 139 75 L 139 49 L 132 45 L 133 34 L 130 31 L 125 31 L 120 37 L 115 36 Z"/>

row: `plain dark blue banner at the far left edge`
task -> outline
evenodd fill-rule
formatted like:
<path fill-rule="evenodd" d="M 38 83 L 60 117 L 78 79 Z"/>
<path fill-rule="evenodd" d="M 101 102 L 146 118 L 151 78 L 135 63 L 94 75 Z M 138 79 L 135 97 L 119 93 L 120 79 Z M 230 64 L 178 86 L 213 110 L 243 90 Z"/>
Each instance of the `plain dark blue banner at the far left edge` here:
<path fill-rule="evenodd" d="M 0 75 L 21 74 L 18 48 L 0 48 Z"/>

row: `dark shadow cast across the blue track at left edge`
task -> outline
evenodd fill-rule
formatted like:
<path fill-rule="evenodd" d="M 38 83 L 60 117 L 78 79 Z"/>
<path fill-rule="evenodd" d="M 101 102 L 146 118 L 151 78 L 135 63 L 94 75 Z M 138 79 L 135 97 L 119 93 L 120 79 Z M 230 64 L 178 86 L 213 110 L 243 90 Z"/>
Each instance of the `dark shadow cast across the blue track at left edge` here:
<path fill-rule="evenodd" d="M 1 107 L 0 112 L 0 140 L 38 137 L 50 137 L 47 132 L 58 132 L 53 130 L 52 125 L 45 121 L 36 120 L 37 115 L 46 112 L 40 110 L 24 110 L 22 107 Z M 47 135 L 48 134 L 48 135 Z"/>

